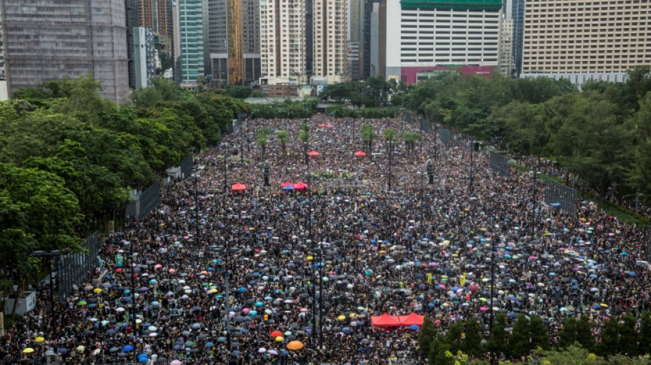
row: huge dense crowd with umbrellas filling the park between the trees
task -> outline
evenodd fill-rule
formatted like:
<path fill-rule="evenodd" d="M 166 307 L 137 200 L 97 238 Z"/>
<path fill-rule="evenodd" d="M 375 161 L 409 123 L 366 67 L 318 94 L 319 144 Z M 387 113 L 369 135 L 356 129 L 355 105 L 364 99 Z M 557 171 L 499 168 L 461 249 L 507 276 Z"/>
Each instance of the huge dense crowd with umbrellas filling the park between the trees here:
<path fill-rule="evenodd" d="M 312 116 L 319 154 L 306 164 L 300 123 L 245 121 L 198 155 L 197 177 L 108 237 L 106 266 L 66 303 L 48 313 L 39 300 L 8 329 L 1 362 L 50 351 L 66 364 L 395 364 L 416 357 L 417 330 L 373 328 L 371 316 L 427 314 L 441 331 L 476 316 L 486 336 L 491 312 L 524 312 L 554 338 L 566 316 L 589 315 L 598 335 L 604 319 L 650 309 L 646 230 L 587 201 L 575 215 L 545 205 L 542 181 L 499 176 L 435 130 L 391 153 L 383 129 L 415 130 L 402 118 Z M 379 137 L 356 157 L 362 123 Z M 286 153 L 272 135 L 262 155 L 263 125 L 290 132 Z"/>

